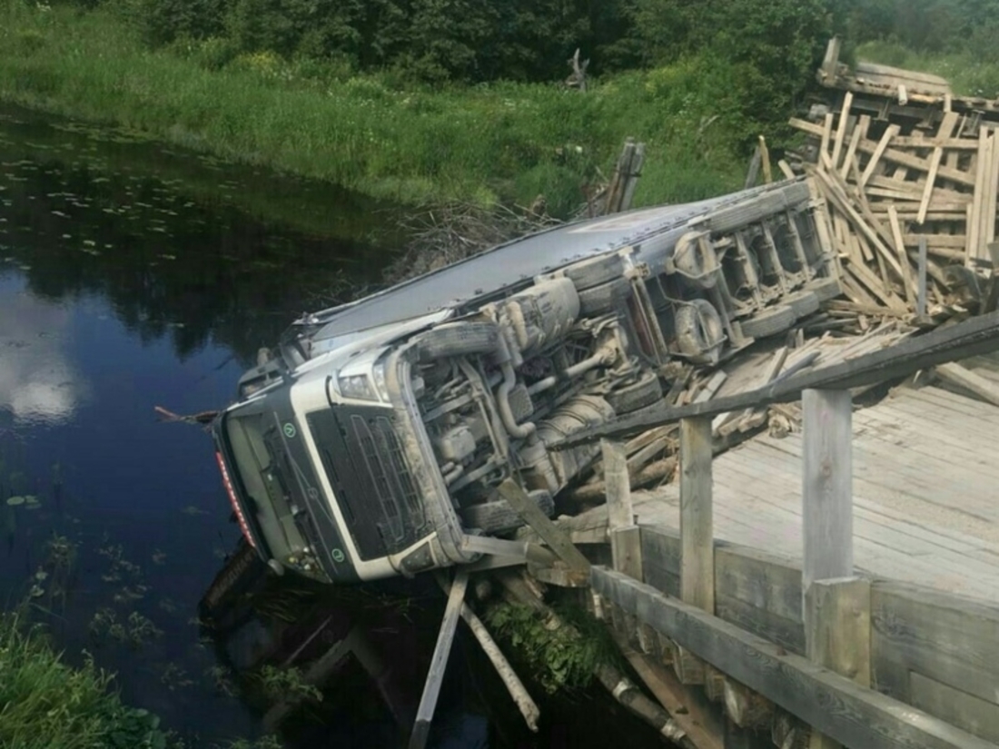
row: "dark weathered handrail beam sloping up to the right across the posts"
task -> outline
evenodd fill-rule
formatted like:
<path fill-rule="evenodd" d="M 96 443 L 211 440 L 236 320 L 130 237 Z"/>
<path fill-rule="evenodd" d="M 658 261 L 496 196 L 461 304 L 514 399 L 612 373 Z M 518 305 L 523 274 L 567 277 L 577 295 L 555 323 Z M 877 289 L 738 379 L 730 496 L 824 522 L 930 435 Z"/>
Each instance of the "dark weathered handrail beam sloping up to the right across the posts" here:
<path fill-rule="evenodd" d="M 599 426 L 580 429 L 549 447 L 584 444 L 600 437 L 624 437 L 689 416 L 715 416 L 749 406 L 796 400 L 801 391 L 809 387 L 850 389 L 876 384 L 947 362 L 994 352 L 997 343 L 999 312 L 980 315 L 963 323 L 905 339 L 894 346 L 848 362 L 800 373 L 736 395 L 716 397 L 703 403 L 666 407 L 657 413 L 623 416 Z"/>

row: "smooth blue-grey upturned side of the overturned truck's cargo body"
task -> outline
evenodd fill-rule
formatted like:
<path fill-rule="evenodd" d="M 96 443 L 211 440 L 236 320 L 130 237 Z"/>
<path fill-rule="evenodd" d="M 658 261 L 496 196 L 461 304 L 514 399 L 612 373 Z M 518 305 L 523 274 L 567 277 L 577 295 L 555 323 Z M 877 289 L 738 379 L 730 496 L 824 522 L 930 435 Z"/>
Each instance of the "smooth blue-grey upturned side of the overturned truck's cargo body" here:
<path fill-rule="evenodd" d="M 584 219 L 529 235 L 349 305 L 319 313 L 320 341 L 411 320 L 488 297 L 583 258 L 613 252 L 685 226 L 714 209 L 744 201 L 766 185 L 696 203 L 641 208 Z"/>

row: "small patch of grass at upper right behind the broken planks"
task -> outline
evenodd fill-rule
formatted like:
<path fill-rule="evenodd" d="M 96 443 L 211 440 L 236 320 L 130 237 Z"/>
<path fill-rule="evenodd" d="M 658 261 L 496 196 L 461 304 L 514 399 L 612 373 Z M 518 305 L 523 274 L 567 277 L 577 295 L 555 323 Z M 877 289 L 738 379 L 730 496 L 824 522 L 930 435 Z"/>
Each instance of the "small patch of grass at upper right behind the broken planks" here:
<path fill-rule="evenodd" d="M 896 42 L 866 42 L 857 47 L 858 60 L 932 73 L 950 81 L 957 96 L 999 97 L 999 57 L 970 52 L 923 53 Z"/>

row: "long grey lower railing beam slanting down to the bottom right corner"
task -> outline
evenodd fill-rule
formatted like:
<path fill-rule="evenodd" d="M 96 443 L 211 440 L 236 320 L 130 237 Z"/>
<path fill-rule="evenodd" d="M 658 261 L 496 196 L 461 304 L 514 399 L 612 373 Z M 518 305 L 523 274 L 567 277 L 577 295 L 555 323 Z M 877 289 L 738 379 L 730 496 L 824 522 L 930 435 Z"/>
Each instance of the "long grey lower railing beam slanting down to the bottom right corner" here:
<path fill-rule="evenodd" d="M 995 749 L 626 575 L 593 567 L 590 582 L 604 598 L 844 746 Z"/>

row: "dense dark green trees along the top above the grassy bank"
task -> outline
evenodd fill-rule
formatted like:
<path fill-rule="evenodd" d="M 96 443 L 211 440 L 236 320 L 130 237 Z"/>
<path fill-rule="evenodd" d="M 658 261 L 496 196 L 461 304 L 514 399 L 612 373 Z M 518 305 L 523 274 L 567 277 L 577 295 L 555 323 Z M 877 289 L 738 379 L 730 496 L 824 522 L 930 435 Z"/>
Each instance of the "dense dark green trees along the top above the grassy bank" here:
<path fill-rule="evenodd" d="M 94 0 L 79 0 L 93 2 Z M 841 0 L 106 0 L 152 46 L 212 40 L 214 60 L 275 53 L 413 83 L 553 82 L 576 48 L 600 75 L 706 54 L 738 67 L 756 119 L 810 80 Z M 779 119 L 779 116 L 775 119 Z"/>

